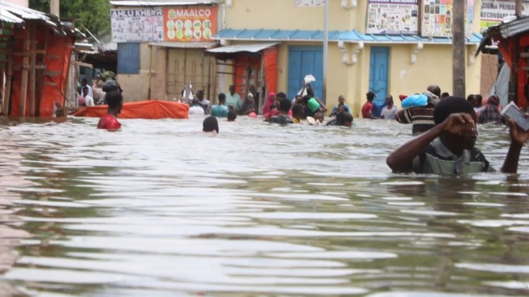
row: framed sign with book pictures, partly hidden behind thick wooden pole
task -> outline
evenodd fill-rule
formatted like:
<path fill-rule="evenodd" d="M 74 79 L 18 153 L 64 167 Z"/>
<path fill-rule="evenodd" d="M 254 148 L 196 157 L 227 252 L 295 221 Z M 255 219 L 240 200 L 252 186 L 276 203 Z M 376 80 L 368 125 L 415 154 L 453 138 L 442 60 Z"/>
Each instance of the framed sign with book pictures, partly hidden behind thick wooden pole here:
<path fill-rule="evenodd" d="M 462 0 L 424 0 L 422 5 L 422 36 L 452 37 L 452 3 Z M 472 35 L 474 0 L 466 0 L 465 35 Z"/>

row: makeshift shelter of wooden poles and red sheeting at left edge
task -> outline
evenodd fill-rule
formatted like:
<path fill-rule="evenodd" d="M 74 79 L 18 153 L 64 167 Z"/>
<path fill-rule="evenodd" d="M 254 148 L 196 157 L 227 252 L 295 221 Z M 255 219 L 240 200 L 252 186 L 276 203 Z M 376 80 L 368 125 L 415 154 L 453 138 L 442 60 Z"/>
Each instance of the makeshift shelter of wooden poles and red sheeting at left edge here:
<path fill-rule="evenodd" d="M 56 103 L 65 105 L 73 44 L 83 34 L 74 23 L 1 0 L 0 28 L 3 115 L 51 116 Z"/>

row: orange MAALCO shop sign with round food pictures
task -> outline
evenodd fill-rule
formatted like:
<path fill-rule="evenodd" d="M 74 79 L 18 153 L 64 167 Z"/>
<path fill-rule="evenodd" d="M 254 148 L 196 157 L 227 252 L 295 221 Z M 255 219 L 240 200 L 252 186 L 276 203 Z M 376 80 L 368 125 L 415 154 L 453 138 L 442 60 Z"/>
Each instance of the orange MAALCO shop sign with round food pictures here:
<path fill-rule="evenodd" d="M 217 9 L 211 6 L 164 8 L 165 41 L 212 41 L 216 34 Z"/>

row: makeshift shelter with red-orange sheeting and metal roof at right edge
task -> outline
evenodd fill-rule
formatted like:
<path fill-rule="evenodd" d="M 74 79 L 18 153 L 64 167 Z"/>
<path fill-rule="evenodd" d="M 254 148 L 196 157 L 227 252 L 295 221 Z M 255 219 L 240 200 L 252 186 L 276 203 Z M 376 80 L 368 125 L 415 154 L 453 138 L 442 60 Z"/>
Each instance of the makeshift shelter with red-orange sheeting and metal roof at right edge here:
<path fill-rule="evenodd" d="M 498 42 L 498 50 L 510 67 L 509 100 L 527 109 L 529 96 L 529 17 L 488 28 L 481 46 Z M 480 47 L 481 47 L 480 46 Z"/>

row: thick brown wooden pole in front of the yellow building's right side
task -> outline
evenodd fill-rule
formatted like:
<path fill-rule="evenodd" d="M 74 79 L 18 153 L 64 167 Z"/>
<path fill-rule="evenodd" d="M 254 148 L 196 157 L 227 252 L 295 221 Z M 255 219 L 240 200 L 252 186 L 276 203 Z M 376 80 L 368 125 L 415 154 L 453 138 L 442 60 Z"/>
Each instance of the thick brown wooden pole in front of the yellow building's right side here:
<path fill-rule="evenodd" d="M 465 98 L 465 5 L 454 1 L 452 5 L 452 78 L 453 94 Z"/>

